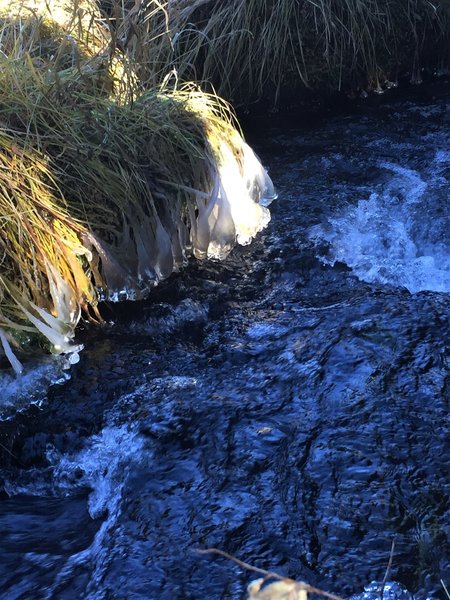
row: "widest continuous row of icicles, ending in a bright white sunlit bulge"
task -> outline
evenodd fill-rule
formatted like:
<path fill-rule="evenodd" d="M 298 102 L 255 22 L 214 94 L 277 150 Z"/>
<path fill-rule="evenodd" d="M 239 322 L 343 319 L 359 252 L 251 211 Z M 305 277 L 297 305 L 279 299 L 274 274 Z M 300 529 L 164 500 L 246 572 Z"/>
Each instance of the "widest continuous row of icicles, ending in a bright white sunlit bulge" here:
<path fill-rule="evenodd" d="M 198 259 L 224 259 L 236 244 L 249 244 L 270 221 L 267 206 L 276 198 L 273 183 L 253 150 L 240 139 L 239 154 L 224 140 L 210 159 L 210 190 L 189 188 L 187 206 L 149 192 L 146 210 L 124 217 L 117 246 L 95 233 L 83 235 L 89 253 L 101 262 L 113 302 L 145 297 L 151 287 Z"/>

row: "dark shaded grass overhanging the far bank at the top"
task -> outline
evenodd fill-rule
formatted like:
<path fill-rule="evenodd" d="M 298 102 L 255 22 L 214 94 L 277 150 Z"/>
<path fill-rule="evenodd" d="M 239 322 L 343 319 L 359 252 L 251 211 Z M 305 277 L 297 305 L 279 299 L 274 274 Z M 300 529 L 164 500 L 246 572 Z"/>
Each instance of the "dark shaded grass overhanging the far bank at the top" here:
<path fill-rule="evenodd" d="M 237 104 L 276 105 L 280 96 L 307 90 L 381 91 L 406 74 L 419 81 L 423 67 L 450 66 L 446 0 L 132 4 L 116 5 L 114 22 L 125 51 L 138 52 L 145 77 L 158 82 L 172 67 Z"/>

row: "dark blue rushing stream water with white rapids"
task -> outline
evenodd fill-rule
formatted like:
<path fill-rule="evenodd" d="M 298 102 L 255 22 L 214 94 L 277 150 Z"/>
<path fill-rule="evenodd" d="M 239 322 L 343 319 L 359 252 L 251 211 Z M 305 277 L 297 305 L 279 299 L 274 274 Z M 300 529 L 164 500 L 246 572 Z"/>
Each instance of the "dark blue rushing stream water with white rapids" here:
<path fill-rule="evenodd" d="M 197 547 L 348 596 L 394 538 L 389 580 L 444 596 L 450 94 L 432 94 L 261 134 L 280 199 L 255 243 L 105 309 L 70 380 L 4 376 L 5 405 L 40 407 L 0 425 L 1 598 L 244 598 L 255 576 Z"/>

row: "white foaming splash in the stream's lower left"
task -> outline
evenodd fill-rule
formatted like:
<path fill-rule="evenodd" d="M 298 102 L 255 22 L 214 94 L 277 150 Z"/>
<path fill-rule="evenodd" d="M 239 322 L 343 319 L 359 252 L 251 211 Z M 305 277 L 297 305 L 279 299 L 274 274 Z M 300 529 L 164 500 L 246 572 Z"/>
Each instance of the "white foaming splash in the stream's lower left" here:
<path fill-rule="evenodd" d="M 122 396 L 125 405 L 135 396 L 146 393 L 142 386 L 135 393 Z M 68 555 L 53 582 L 42 590 L 42 598 L 59 597 L 80 569 L 89 571 L 86 597 L 104 599 L 106 592 L 102 580 L 111 561 L 116 557 L 117 540 L 121 536 L 119 525 L 123 510 L 124 490 L 130 473 L 139 464 L 150 460 L 151 453 L 144 453 L 145 439 L 139 435 L 137 426 L 123 421 L 114 410 L 105 414 L 107 424 L 100 433 L 86 440 L 85 446 L 74 452 L 60 452 L 47 446 L 49 466 L 35 469 L 32 480 L 27 477 L 17 482 L 5 481 L 5 492 L 10 496 L 29 495 L 40 497 L 70 497 L 86 488 L 92 491 L 88 498 L 88 511 L 92 519 L 103 519 L 92 543 L 74 554 Z M 119 545 L 119 544 L 118 544 Z M 35 560 L 42 566 L 45 555 L 27 553 L 27 561 Z M 54 561 L 55 557 L 51 557 Z M 31 597 L 31 596 L 30 596 Z"/>

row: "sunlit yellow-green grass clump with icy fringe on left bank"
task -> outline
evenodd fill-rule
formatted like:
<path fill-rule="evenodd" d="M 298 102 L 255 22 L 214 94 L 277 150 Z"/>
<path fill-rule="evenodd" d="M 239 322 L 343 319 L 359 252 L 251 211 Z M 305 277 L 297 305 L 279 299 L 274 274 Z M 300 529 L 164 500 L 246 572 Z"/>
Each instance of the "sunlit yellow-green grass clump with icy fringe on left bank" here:
<path fill-rule="evenodd" d="M 273 196 L 225 103 L 193 85 L 143 92 L 77 6 L 69 26 L 0 24 L 0 356 L 17 372 L 20 347 L 73 351 L 99 300 L 248 243 Z"/>

